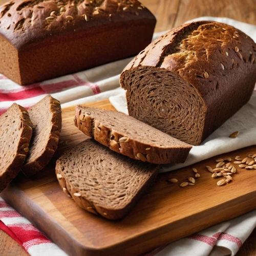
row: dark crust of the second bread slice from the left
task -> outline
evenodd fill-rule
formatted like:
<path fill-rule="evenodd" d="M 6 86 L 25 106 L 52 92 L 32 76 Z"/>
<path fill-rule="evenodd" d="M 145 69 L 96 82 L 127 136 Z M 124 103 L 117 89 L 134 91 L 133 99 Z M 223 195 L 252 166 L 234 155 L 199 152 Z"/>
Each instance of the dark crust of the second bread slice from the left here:
<path fill-rule="evenodd" d="M 51 115 L 51 134 L 49 134 L 48 143 L 45 146 L 45 151 L 42 152 L 41 156 L 39 156 L 34 161 L 26 162 L 22 167 L 22 172 L 27 176 L 31 177 L 44 168 L 51 158 L 53 157 L 55 151 L 57 150 L 60 131 L 61 131 L 61 106 L 60 102 L 54 99 L 51 95 L 46 96 L 49 97 L 49 104 L 51 105 L 51 113 L 45 113 L 46 115 Z M 28 110 L 29 112 L 29 110 Z M 43 110 L 42 110 L 43 112 Z"/>

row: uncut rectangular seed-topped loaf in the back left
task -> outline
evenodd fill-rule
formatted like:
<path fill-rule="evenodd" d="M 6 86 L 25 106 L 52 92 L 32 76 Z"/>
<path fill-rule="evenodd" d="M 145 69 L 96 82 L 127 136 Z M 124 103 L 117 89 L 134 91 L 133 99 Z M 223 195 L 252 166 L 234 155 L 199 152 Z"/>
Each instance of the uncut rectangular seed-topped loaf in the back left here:
<path fill-rule="evenodd" d="M 155 24 L 137 0 L 14 0 L 0 7 L 0 73 L 25 85 L 134 56 Z"/>

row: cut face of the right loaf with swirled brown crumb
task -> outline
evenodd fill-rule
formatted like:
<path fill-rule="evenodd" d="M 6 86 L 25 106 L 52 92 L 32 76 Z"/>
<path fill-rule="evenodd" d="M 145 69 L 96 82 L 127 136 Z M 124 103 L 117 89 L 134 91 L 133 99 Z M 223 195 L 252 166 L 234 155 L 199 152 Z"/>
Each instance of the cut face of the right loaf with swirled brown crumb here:
<path fill-rule="evenodd" d="M 193 86 L 178 75 L 154 67 L 125 71 L 129 115 L 189 144 L 201 142 L 205 108 Z"/>

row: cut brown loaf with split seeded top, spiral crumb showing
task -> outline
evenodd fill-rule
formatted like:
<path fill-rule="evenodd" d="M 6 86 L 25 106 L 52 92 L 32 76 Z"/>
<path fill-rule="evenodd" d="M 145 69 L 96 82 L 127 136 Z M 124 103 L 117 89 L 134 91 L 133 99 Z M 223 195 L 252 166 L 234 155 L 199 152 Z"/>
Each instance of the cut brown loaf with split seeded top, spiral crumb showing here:
<path fill-rule="evenodd" d="M 160 36 L 120 77 L 129 115 L 194 145 L 250 99 L 255 82 L 253 40 L 210 21 Z"/>

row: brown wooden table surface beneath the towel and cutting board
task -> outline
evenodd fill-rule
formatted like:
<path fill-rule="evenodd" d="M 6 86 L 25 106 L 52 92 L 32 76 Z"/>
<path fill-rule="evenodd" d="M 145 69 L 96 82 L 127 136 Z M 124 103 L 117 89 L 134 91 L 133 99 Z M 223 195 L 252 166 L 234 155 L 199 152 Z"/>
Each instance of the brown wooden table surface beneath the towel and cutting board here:
<path fill-rule="evenodd" d="M 0 0 L 0 4 L 7 1 Z M 168 30 L 200 16 L 229 17 L 256 25 L 255 0 L 141 0 L 156 16 L 156 31 Z M 0 230 L 0 255 L 28 255 L 12 238 Z M 237 255 L 256 256 L 256 229 Z"/>

